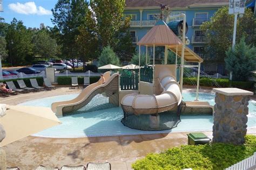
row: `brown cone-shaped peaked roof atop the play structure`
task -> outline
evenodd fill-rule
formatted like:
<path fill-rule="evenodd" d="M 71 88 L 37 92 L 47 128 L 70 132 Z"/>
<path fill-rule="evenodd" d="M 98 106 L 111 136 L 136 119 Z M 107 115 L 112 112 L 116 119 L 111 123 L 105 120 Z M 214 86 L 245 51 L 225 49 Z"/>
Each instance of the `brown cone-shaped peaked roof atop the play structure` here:
<path fill-rule="evenodd" d="M 182 45 L 181 40 L 164 21 L 158 21 L 137 45 Z"/>

